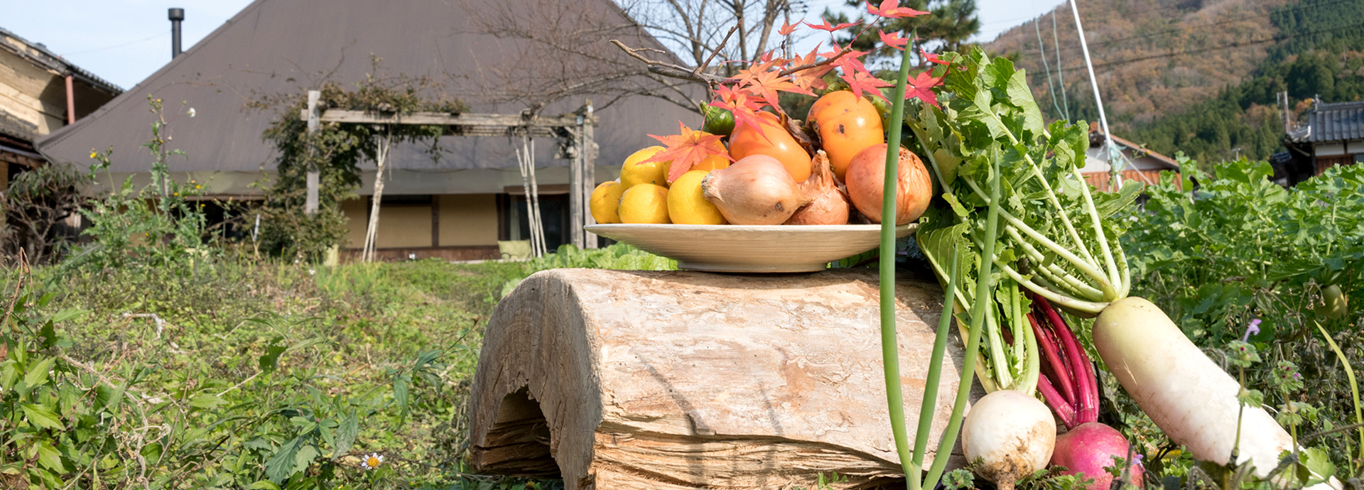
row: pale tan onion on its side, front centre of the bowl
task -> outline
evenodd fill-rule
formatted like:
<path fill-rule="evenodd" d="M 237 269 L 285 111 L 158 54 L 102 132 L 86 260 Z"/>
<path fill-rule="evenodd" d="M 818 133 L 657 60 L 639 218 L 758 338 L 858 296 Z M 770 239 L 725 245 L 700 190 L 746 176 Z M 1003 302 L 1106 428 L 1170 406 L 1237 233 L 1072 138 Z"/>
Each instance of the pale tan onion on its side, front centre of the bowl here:
<path fill-rule="evenodd" d="M 779 225 L 810 202 L 776 158 L 753 154 L 701 179 L 701 195 L 735 225 Z"/>

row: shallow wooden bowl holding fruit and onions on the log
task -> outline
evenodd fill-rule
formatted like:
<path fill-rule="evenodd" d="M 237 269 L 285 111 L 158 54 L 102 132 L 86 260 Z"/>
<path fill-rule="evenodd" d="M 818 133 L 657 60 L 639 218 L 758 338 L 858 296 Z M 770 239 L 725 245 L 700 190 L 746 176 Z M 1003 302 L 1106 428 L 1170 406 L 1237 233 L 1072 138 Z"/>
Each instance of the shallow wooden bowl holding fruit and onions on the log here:
<path fill-rule="evenodd" d="M 896 227 L 908 236 L 918 224 Z M 587 231 L 708 272 L 814 272 L 881 244 L 881 225 L 596 224 Z"/>

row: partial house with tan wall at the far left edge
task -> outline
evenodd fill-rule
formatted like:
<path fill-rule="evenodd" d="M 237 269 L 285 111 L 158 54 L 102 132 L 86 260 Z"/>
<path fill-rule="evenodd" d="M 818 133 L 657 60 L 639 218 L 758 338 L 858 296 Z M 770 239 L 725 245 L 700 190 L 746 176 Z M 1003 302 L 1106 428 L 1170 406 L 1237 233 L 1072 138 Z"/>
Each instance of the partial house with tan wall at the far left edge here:
<path fill-rule="evenodd" d="M 0 29 L 0 191 L 45 160 L 33 142 L 123 93 L 41 44 Z"/>

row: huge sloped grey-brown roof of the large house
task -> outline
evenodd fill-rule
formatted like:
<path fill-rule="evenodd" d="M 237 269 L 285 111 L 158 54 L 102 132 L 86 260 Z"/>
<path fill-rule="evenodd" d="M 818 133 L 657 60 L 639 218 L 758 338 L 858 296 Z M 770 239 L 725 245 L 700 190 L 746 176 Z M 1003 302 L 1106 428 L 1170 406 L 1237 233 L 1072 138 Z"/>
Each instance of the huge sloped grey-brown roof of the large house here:
<path fill-rule="evenodd" d="M 543 5 L 555 11 L 546 12 Z M 521 12 L 525 16 L 516 19 Z M 546 15 L 554 19 L 546 20 Z M 491 34 L 498 29 L 490 26 L 502 26 L 502 33 Z M 612 31 L 595 31 L 589 44 L 572 49 L 554 41 L 569 35 L 543 35 L 542 42 L 533 42 L 516 34 L 518 29 L 537 35 L 552 29 L 599 29 L 595 26 L 611 26 Z M 518 113 L 543 102 L 547 105 L 542 113 L 555 115 L 573 112 L 592 98 L 600 108 L 597 164 L 612 165 L 652 145 L 647 132 L 674 132 L 678 120 L 698 123 L 697 115 L 677 104 L 621 97 L 662 83 L 642 64 L 634 75 L 622 74 L 621 63 L 603 67 L 614 70 L 611 79 L 587 83 L 593 63 L 602 63 L 593 57 L 623 56 L 607 44 L 610 38 L 663 48 L 633 26 L 611 0 L 256 0 L 135 87 L 76 124 L 40 139 L 37 146 L 55 161 L 87 162 L 91 149 L 112 145 L 112 171 L 145 172 L 149 157 L 139 146 L 150 138 L 150 94 L 166 104 L 168 146 L 188 156 L 187 161 L 172 160 L 173 171 L 269 169 L 274 153 L 261 135 L 276 113 L 247 109 L 246 104 L 271 94 L 303 93 L 323 81 L 355 83 L 374 72 L 378 57 L 381 74 L 428 76 L 441 83 L 430 90 L 466 102 L 471 112 Z M 580 42 L 581 37 L 574 40 Z M 584 57 L 584 52 L 591 56 Z M 570 85 L 592 89 L 573 91 Z M 700 89 L 682 90 L 697 94 Z M 184 115 L 187 108 L 195 109 L 194 117 Z M 423 171 L 516 167 L 507 138 L 447 136 L 441 146 L 447 153 L 439 161 L 432 161 L 424 147 L 396 147 L 391 164 Z M 539 165 L 566 164 L 550 160 L 552 149 L 548 142 L 537 145 Z"/>

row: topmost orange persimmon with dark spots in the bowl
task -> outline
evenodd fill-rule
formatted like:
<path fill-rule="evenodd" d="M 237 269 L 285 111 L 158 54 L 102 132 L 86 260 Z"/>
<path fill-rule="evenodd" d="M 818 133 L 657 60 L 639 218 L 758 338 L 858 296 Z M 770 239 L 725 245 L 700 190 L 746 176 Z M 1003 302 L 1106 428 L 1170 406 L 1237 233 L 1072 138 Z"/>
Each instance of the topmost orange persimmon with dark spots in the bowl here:
<path fill-rule="evenodd" d="M 847 176 L 853 157 L 872 145 L 885 143 L 881 113 L 866 98 L 848 90 L 824 94 L 814 101 L 807 115 L 820 132 L 820 146 L 829 154 L 833 175 Z"/>

